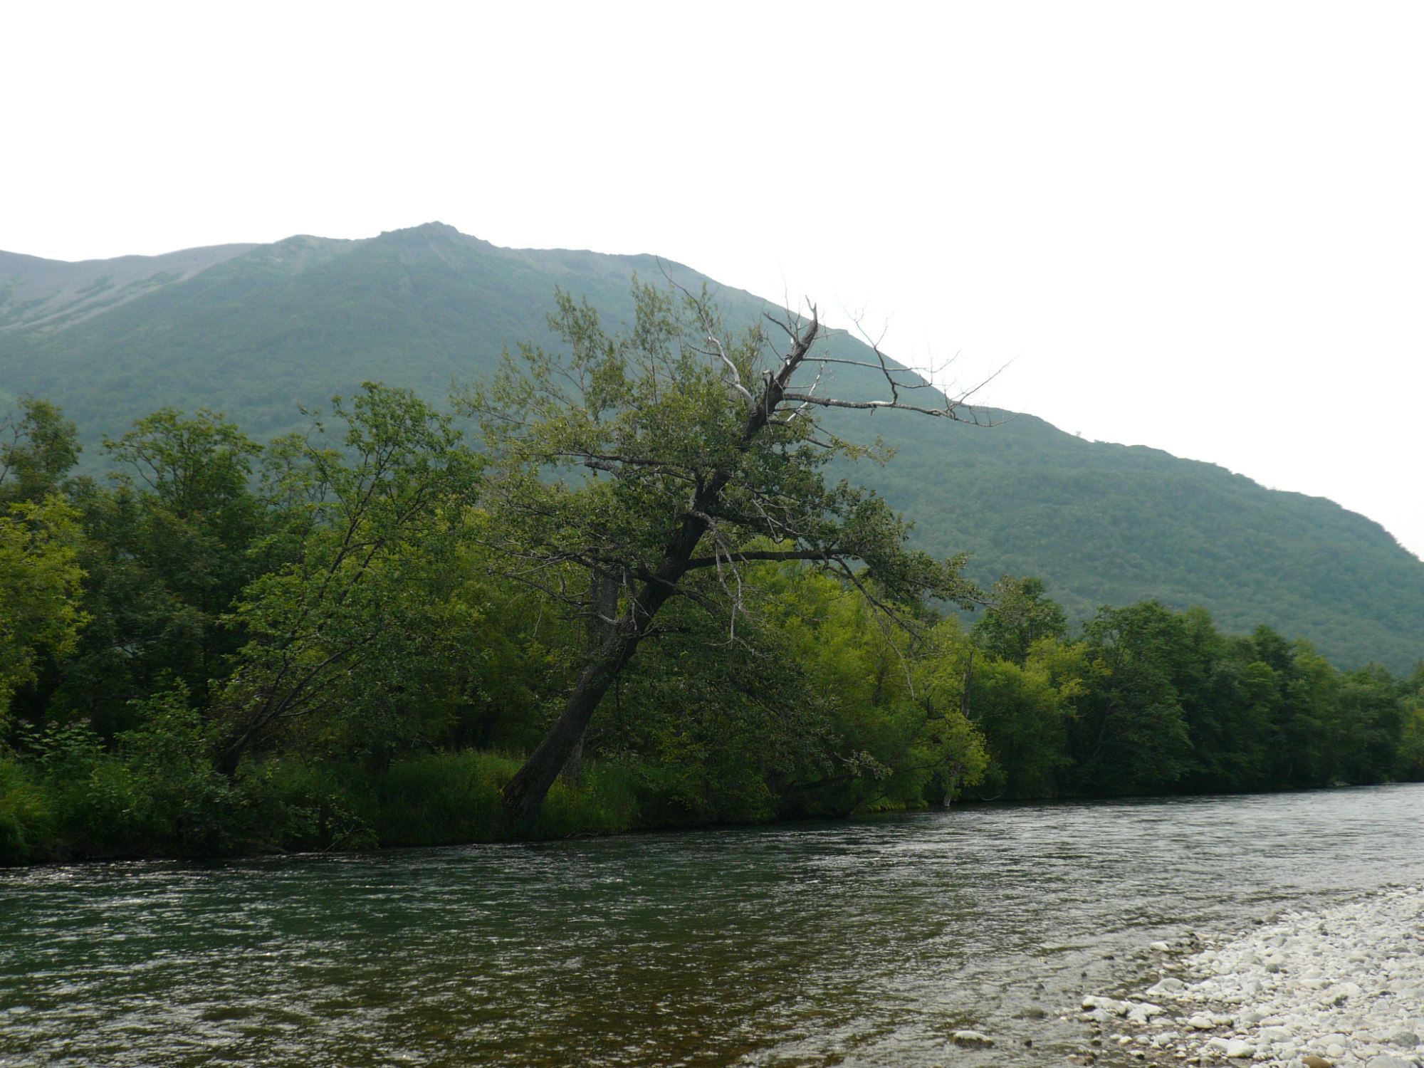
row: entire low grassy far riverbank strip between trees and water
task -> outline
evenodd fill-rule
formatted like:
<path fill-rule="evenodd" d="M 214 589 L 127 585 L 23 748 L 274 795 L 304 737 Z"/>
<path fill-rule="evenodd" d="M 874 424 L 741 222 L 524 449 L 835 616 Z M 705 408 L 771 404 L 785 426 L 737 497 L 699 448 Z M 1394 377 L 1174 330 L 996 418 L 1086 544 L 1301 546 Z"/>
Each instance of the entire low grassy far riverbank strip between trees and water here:
<path fill-rule="evenodd" d="M 131 760 L 103 752 L 83 731 L 63 735 L 44 760 L 0 752 L 0 869 L 108 860 L 195 860 L 279 853 L 356 853 L 602 837 L 635 832 L 746 827 L 766 823 L 887 815 L 938 807 L 918 796 L 866 793 L 859 806 L 836 795 L 795 805 L 753 797 L 746 805 L 696 806 L 679 779 L 631 760 L 590 760 L 577 785 L 560 779 L 543 812 L 511 830 L 500 793 L 521 755 L 463 749 L 413 753 L 383 769 L 347 762 L 272 758 L 226 780 L 197 759 Z M 182 756 L 182 755 L 181 755 Z M 191 756 L 191 755 L 189 755 Z M 1210 797 L 1303 796 L 1313 790 L 1259 790 Z M 956 810 L 1148 803 L 1129 795 L 980 800 Z"/>

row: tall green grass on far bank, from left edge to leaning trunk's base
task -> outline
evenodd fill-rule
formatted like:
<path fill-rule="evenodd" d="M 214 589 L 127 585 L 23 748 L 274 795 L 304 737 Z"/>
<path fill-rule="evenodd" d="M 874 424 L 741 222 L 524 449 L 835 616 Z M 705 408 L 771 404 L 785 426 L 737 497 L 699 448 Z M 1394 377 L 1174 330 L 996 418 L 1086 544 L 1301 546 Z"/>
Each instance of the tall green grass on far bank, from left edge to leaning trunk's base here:
<path fill-rule="evenodd" d="M 0 756 L 0 864 L 449 846 L 651 826 L 642 815 L 649 787 L 637 770 L 591 762 L 577 786 L 555 783 L 534 823 L 513 827 L 500 790 L 520 763 L 506 753 L 437 752 L 373 772 L 286 758 L 248 765 L 228 783 L 174 765 L 158 773 L 152 762 L 91 748 L 63 763 Z"/>

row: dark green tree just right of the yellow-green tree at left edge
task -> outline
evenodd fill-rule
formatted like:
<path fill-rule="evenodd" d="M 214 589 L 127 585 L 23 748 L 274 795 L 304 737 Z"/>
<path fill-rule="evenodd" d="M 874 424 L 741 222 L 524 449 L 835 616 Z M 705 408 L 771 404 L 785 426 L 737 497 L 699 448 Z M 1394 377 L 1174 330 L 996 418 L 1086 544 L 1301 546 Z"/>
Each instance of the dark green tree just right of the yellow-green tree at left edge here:
<path fill-rule="evenodd" d="M 112 738 L 169 681 L 208 705 L 244 641 L 222 617 L 268 565 L 252 548 L 273 515 L 251 487 L 259 447 L 212 412 L 155 412 L 105 451 L 121 464 L 110 484 L 70 487 L 88 625 L 43 701 Z"/>

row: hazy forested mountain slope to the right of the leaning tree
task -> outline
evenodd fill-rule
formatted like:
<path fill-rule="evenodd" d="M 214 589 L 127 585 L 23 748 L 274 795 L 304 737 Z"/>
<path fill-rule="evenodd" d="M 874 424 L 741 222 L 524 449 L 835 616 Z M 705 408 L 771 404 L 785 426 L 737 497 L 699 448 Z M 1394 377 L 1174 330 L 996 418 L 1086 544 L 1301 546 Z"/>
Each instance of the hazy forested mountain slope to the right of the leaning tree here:
<path fill-rule="evenodd" d="M 968 553 L 965 575 L 985 585 L 1041 575 L 1069 621 L 1158 600 L 1202 605 L 1227 632 L 1306 637 L 1346 668 L 1403 672 L 1424 655 L 1424 564 L 1333 501 L 1027 414 L 883 433 L 896 461 L 867 483 L 914 517 L 916 545 Z"/>

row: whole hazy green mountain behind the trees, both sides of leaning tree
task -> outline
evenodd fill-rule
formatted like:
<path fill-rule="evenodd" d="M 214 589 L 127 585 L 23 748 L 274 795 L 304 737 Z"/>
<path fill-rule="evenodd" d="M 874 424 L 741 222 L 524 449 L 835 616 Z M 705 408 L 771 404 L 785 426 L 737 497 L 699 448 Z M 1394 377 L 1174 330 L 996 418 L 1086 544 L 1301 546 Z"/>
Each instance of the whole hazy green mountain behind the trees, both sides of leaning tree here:
<path fill-rule="evenodd" d="M 90 443 L 162 404 L 269 436 L 367 379 L 439 400 L 503 346 L 543 342 L 555 286 L 617 322 L 629 278 L 664 272 L 712 285 L 732 320 L 766 308 L 654 256 L 504 249 L 441 224 L 81 263 L 0 252 L 0 400 L 50 397 Z M 1347 668 L 1424 656 L 1424 562 L 1331 501 L 1028 414 L 975 427 L 850 413 L 839 430 L 899 449 L 854 477 L 916 520 L 921 547 L 973 553 L 980 581 L 1040 575 L 1079 618 L 1148 597 L 1199 604 L 1227 629 L 1310 638 Z"/>

